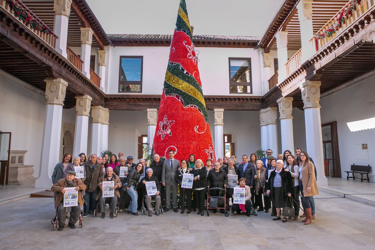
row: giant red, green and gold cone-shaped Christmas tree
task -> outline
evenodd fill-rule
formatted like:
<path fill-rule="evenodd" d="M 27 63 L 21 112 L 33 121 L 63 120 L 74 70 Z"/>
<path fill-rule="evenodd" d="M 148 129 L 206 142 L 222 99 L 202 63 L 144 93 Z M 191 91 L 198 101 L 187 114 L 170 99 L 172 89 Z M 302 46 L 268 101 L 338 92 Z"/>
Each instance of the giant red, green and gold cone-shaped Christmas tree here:
<path fill-rule="evenodd" d="M 197 55 L 186 3 L 181 0 L 154 137 L 154 152 L 160 157 L 168 159 L 168 151 L 174 150 L 178 160 L 194 154 L 204 163 L 208 158 L 216 161 Z"/>

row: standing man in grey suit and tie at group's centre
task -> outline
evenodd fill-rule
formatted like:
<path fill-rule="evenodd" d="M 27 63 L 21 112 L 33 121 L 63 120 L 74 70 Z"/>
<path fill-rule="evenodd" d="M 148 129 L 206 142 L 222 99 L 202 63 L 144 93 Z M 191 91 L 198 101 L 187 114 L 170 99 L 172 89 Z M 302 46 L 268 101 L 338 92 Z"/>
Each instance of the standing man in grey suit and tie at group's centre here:
<path fill-rule="evenodd" d="M 165 160 L 163 163 L 162 170 L 162 185 L 165 187 L 165 212 L 169 211 L 171 206 L 171 192 L 172 192 L 172 205 L 173 211 L 178 213 L 177 210 L 177 181 L 175 180 L 175 175 L 180 168 L 180 162 L 174 159 L 174 151 L 168 151 L 169 159 Z"/>

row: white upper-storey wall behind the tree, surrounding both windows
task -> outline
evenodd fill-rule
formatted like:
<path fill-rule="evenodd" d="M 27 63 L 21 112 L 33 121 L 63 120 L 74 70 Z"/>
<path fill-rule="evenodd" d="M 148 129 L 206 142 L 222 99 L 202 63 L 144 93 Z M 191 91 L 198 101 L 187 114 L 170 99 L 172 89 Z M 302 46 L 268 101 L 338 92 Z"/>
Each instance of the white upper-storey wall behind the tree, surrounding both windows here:
<path fill-rule="evenodd" d="M 197 48 L 198 68 L 204 95 L 229 95 L 229 57 L 251 58 L 252 91 L 261 93 L 261 70 L 259 50 L 252 48 Z M 143 79 L 141 94 L 161 94 L 168 65 L 169 47 L 115 47 L 109 49 L 108 94 L 118 94 L 118 74 L 121 55 L 143 56 Z M 107 65 L 106 63 L 106 65 Z M 263 66 L 262 66 L 263 67 Z M 139 94 L 139 93 L 125 93 Z M 238 93 L 233 94 L 238 95 Z"/>

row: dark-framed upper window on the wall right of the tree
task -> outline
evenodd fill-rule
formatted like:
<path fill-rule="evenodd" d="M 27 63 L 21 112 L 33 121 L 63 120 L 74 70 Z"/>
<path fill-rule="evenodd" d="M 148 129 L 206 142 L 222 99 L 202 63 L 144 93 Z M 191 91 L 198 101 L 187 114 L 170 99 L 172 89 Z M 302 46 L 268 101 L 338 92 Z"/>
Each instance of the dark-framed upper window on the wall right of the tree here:
<path fill-rule="evenodd" d="M 229 93 L 251 92 L 251 59 L 229 58 Z"/>

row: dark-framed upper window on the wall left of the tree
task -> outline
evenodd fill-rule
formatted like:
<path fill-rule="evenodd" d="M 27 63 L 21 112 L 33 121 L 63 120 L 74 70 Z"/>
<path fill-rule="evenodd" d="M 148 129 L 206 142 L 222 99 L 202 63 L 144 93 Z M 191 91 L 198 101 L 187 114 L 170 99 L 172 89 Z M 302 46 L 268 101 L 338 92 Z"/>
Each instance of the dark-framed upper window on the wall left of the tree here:
<path fill-rule="evenodd" d="M 142 92 L 142 56 L 121 56 L 118 92 Z"/>

